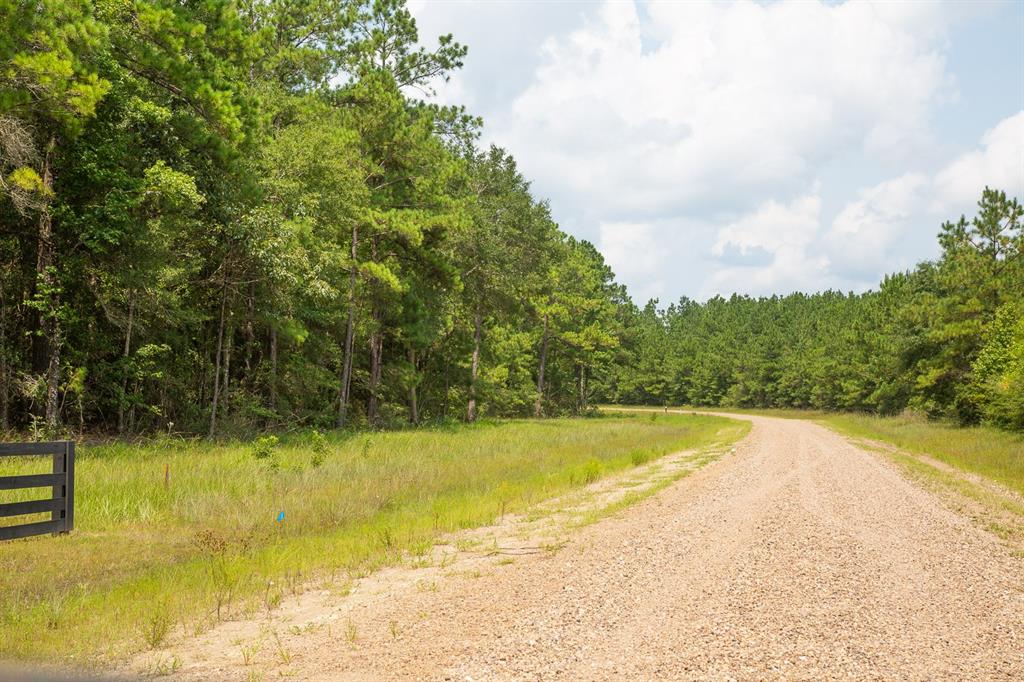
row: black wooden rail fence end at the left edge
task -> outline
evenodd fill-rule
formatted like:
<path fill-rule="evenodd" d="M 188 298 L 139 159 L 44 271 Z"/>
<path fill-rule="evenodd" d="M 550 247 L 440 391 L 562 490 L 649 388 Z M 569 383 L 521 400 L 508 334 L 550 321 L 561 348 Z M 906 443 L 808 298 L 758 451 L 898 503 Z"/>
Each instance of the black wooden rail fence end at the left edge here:
<path fill-rule="evenodd" d="M 52 473 L 0 476 L 0 491 L 49 487 L 50 499 L 0 504 L 0 518 L 49 512 L 50 520 L 0 527 L 0 540 L 70 531 L 75 526 L 75 442 L 0 443 L 0 458 L 25 456 L 51 456 Z"/>

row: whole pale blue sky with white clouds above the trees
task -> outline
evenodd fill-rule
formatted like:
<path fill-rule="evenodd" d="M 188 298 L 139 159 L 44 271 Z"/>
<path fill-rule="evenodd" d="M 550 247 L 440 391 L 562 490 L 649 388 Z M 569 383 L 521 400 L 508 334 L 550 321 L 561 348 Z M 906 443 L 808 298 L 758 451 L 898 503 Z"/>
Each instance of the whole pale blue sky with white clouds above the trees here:
<path fill-rule="evenodd" d="M 410 0 L 565 231 L 635 301 L 865 291 L 1024 200 L 1024 2 Z"/>

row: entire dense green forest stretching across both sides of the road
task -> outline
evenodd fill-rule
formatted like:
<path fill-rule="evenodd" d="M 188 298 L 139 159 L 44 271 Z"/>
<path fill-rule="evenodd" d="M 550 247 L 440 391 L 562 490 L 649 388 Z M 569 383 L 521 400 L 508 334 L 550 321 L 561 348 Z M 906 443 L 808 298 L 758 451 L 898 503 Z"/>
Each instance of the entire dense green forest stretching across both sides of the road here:
<path fill-rule="evenodd" d="M 0 0 L 0 430 L 247 433 L 600 400 L 1024 428 L 1021 208 L 877 292 L 642 309 L 401 0 Z"/>

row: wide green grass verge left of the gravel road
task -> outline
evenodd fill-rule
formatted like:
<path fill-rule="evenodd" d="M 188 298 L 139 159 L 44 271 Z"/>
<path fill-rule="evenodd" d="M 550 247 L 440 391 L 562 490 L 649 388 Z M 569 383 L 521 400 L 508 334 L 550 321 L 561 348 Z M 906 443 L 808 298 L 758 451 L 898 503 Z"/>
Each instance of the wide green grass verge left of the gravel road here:
<path fill-rule="evenodd" d="M 745 430 L 706 416 L 616 415 L 278 444 L 81 446 L 75 532 L 0 545 L 0 659 L 103 665 Z M 0 474 L 44 465 L 5 460 Z"/>

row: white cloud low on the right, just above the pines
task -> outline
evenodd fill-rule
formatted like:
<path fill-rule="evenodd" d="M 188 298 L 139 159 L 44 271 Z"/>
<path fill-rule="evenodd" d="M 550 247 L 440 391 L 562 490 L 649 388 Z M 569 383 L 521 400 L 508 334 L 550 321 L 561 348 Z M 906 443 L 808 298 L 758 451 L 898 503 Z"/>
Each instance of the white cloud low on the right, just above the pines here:
<path fill-rule="evenodd" d="M 827 228 L 817 190 L 787 205 L 766 202 L 719 229 L 710 252 L 723 267 L 703 294 L 874 287 L 882 274 L 931 255 L 939 223 L 971 215 L 986 184 L 1024 196 L 1024 112 L 1000 121 L 979 148 L 934 175 L 905 173 L 862 188 Z M 760 251 L 765 262 L 737 266 L 730 250 Z"/>

